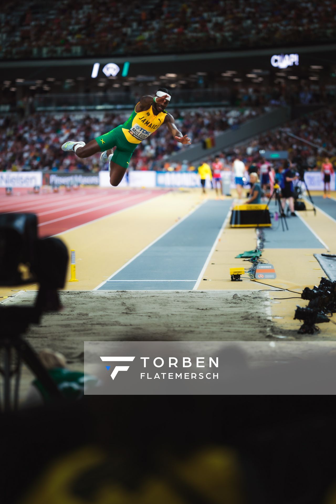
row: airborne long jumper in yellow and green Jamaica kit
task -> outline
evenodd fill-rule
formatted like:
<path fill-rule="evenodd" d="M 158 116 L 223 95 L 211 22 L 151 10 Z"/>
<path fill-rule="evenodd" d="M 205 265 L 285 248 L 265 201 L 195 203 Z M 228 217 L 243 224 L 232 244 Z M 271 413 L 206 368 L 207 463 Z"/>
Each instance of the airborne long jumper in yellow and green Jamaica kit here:
<path fill-rule="evenodd" d="M 177 142 L 190 144 L 190 139 L 182 135 L 174 124 L 174 117 L 165 110 L 171 96 L 167 89 L 159 88 L 156 95 L 143 96 L 137 103 L 129 118 L 114 130 L 84 142 L 65 142 L 63 151 L 74 151 L 80 158 L 87 158 L 102 152 L 103 163 L 109 161 L 110 183 L 118 185 L 128 167 L 130 158 L 137 145 L 146 140 L 162 124 L 167 124 L 168 130 Z M 116 147 L 113 153 L 113 147 Z M 113 160 L 112 160 L 113 159 Z"/>

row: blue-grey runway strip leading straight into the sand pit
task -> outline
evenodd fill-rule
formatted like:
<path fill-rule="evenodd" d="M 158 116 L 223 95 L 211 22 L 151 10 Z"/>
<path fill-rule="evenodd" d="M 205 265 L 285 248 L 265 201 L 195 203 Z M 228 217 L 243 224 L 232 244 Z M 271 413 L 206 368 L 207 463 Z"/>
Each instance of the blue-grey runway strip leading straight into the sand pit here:
<path fill-rule="evenodd" d="M 192 289 L 231 203 L 204 203 L 97 290 Z"/>

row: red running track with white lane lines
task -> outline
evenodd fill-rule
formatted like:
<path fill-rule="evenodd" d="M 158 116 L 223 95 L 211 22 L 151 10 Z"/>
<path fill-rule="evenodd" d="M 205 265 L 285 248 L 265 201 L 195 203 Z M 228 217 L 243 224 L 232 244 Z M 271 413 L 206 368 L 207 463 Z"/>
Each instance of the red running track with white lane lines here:
<path fill-rule="evenodd" d="M 80 188 L 78 191 L 27 194 L 0 193 L 0 213 L 29 212 L 38 216 L 39 236 L 52 236 L 100 217 L 131 208 L 168 190 Z"/>

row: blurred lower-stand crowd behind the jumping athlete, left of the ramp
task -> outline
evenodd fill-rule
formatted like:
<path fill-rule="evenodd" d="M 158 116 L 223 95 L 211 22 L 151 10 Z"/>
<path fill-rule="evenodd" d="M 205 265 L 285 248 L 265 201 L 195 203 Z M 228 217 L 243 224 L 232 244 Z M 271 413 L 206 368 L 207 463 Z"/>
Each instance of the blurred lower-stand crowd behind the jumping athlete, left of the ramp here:
<path fill-rule="evenodd" d="M 262 113 L 263 108 L 223 108 L 207 110 L 174 110 L 176 125 L 188 134 L 192 143 L 204 141 L 229 128 Z M 32 114 L 18 119 L 15 115 L 0 117 L 0 169 L 98 171 L 99 155 L 87 159 L 61 151 L 67 140 L 90 140 L 106 133 L 129 117 L 123 114 Z M 186 146 L 177 143 L 163 126 L 143 141 L 132 156 L 130 169 L 151 169 L 154 160 L 167 156 Z M 107 168 L 107 167 L 106 167 Z"/>

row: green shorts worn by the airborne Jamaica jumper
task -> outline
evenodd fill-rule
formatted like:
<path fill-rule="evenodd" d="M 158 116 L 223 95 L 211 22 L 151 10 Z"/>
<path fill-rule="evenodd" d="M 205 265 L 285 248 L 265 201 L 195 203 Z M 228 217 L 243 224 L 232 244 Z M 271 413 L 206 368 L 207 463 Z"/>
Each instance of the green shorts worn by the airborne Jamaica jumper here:
<path fill-rule="evenodd" d="M 128 163 L 132 157 L 133 152 L 139 144 L 130 144 L 127 142 L 125 135 L 122 133 L 122 126 L 117 126 L 114 130 L 95 138 L 95 141 L 100 147 L 100 151 L 108 151 L 116 146 L 113 153 L 113 163 L 128 168 Z"/>

